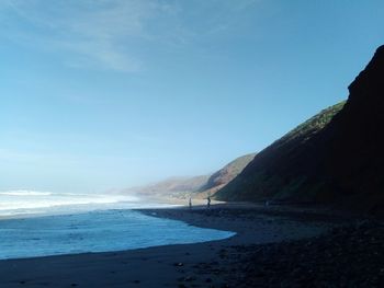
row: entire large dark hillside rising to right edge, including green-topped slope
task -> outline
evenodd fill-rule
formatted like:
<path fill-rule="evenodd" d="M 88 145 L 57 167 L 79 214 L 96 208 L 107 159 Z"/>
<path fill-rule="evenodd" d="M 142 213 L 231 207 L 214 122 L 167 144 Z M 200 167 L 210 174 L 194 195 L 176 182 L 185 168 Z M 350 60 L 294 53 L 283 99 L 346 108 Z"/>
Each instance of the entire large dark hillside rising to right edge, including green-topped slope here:
<path fill-rule="evenodd" d="M 215 197 L 380 210 L 384 204 L 384 46 L 349 91 L 346 104 L 323 111 L 264 149 Z"/>

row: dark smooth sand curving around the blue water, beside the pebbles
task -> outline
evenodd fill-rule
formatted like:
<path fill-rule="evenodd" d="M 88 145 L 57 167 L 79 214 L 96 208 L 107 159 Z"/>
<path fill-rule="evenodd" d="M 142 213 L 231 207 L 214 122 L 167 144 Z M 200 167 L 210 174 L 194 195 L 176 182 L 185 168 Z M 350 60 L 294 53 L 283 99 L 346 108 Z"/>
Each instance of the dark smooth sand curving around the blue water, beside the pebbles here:
<path fill-rule="evenodd" d="M 241 204 L 142 211 L 237 234 L 197 244 L 0 261 L 0 287 L 237 287 L 247 275 L 241 264 L 249 247 L 313 238 L 340 224 L 332 214 Z"/>

